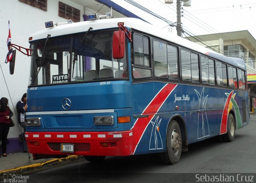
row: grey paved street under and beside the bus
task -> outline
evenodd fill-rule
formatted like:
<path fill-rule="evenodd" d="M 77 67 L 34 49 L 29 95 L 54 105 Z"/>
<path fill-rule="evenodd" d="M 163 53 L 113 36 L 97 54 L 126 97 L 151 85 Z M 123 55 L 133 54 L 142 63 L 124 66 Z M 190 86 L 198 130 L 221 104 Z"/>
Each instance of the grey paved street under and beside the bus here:
<path fill-rule="evenodd" d="M 235 178 L 254 173 L 250 175 L 256 181 L 255 130 L 256 116 L 251 116 L 248 126 L 236 130 L 233 142 L 212 138 L 191 144 L 176 165 L 162 165 L 156 154 L 107 157 L 102 163 L 82 161 L 30 174 L 27 182 L 195 182 L 196 173 Z"/>

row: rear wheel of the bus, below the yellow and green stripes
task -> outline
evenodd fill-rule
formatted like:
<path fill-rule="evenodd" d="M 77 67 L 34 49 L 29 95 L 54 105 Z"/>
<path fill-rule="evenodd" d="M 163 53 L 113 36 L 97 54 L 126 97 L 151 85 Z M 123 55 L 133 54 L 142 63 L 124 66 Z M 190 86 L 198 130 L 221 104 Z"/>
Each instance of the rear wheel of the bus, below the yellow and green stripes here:
<path fill-rule="evenodd" d="M 232 114 L 228 115 L 227 133 L 222 135 L 222 139 L 225 142 L 232 142 L 236 135 L 236 124 Z"/>

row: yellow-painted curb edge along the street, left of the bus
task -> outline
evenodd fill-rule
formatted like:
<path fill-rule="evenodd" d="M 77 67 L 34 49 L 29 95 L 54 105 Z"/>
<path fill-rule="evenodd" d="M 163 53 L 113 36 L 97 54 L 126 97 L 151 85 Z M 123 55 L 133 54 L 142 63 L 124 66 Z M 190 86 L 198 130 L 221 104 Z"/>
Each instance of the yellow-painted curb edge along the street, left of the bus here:
<path fill-rule="evenodd" d="M 21 167 L 1 170 L 0 177 L 4 173 L 35 173 L 38 171 L 48 169 L 50 166 L 58 167 L 61 165 L 76 163 L 84 160 L 85 159 L 83 156 L 78 156 L 78 155 L 70 155 L 64 158 L 55 158 L 48 161 L 44 161 L 42 163 L 34 163 L 31 165 L 25 165 Z"/>

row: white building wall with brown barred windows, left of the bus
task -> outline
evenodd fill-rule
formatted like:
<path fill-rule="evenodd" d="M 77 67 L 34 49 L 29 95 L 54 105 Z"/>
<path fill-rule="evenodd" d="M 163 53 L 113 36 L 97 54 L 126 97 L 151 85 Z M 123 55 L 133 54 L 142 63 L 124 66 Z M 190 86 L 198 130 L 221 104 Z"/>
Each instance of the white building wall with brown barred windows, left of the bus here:
<path fill-rule="evenodd" d="M 30 57 L 18 50 L 13 75 L 9 73 L 9 63 L 4 63 L 8 53 L 8 21 L 11 43 L 29 48 L 28 38 L 32 33 L 45 29 L 44 22 L 67 22 L 69 19 L 73 22 L 84 21 L 85 11 L 88 14 L 95 12 L 72 0 L 0 0 L 0 98 L 8 98 L 10 109 L 14 113 L 12 119 L 16 124 L 8 133 L 7 153 L 22 151 L 22 143 L 18 142 L 21 129 L 17 122 L 16 103 L 26 93 L 30 75 Z"/>

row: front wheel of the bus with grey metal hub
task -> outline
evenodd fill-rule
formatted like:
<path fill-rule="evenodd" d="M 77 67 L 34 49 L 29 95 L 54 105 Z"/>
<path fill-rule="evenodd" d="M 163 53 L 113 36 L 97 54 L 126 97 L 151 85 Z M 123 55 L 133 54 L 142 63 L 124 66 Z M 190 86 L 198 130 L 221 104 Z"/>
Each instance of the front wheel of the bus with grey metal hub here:
<path fill-rule="evenodd" d="M 168 127 L 166 138 L 166 152 L 161 154 L 164 164 L 178 163 L 182 151 L 182 136 L 177 121 L 172 121 Z"/>

